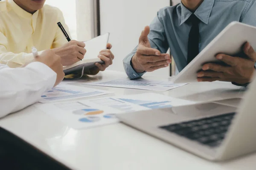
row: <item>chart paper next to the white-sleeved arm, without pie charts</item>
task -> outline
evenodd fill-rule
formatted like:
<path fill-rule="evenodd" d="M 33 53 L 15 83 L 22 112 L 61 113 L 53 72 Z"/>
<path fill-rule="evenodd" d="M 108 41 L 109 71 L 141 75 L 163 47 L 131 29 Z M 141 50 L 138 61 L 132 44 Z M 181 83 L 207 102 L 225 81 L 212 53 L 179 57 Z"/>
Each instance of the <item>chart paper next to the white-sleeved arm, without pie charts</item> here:
<path fill-rule="evenodd" d="M 41 103 L 58 102 L 67 99 L 81 99 L 86 97 L 111 94 L 111 91 L 103 91 L 93 88 L 85 88 L 74 85 L 57 85 L 52 90 L 41 96 Z"/>

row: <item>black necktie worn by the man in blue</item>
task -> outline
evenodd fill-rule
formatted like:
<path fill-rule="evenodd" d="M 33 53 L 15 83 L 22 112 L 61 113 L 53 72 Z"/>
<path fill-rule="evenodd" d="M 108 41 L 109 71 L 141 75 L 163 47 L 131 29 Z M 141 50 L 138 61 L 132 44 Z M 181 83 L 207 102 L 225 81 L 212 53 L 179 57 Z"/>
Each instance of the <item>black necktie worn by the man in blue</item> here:
<path fill-rule="evenodd" d="M 188 22 L 192 24 L 192 27 L 189 32 L 189 43 L 188 43 L 188 59 L 187 64 L 192 61 L 199 54 L 199 19 L 192 14 Z"/>

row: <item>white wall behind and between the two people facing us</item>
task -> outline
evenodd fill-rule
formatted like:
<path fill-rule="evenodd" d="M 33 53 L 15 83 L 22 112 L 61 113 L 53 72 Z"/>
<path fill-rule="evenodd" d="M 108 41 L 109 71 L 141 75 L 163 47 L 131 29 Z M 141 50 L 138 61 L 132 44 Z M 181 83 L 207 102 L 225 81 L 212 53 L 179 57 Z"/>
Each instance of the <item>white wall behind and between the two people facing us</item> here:
<path fill-rule="evenodd" d="M 176 0 L 177 1 L 177 0 Z M 115 59 L 109 70 L 124 71 L 122 59 L 138 44 L 143 28 L 169 0 L 100 0 L 101 34 L 110 32 Z M 169 76 L 169 68 L 148 75 Z"/>

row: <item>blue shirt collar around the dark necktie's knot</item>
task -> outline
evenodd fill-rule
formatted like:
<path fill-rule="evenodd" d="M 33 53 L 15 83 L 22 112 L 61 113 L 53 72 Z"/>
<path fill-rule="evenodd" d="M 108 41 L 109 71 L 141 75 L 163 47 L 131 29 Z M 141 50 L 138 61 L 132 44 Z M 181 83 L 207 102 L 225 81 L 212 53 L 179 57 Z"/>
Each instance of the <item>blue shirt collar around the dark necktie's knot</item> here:
<path fill-rule="evenodd" d="M 209 17 L 212 11 L 212 7 L 214 4 L 214 0 L 204 0 L 201 5 L 195 11 L 195 16 L 198 17 L 203 23 L 208 24 Z M 186 22 L 189 19 L 190 15 L 192 14 L 182 3 L 181 6 L 181 19 L 180 25 Z"/>

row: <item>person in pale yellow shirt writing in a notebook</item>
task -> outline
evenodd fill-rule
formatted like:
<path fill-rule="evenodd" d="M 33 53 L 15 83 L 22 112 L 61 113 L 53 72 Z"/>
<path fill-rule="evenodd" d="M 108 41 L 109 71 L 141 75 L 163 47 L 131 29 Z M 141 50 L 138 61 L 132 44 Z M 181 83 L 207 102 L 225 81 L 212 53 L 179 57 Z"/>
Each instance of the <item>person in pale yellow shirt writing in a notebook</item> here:
<path fill-rule="evenodd" d="M 11 68 L 20 67 L 33 59 L 31 48 L 35 46 L 39 54 L 52 48 L 61 57 L 62 65 L 71 65 L 83 59 L 85 44 L 76 40 L 67 42 L 61 29 L 61 22 L 69 33 L 62 12 L 45 0 L 0 1 L 0 64 Z M 105 63 L 96 63 L 91 73 L 104 71 L 114 58 L 112 45 L 100 52 L 99 58 Z"/>

